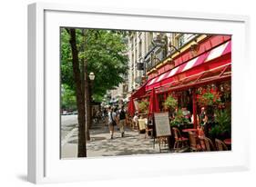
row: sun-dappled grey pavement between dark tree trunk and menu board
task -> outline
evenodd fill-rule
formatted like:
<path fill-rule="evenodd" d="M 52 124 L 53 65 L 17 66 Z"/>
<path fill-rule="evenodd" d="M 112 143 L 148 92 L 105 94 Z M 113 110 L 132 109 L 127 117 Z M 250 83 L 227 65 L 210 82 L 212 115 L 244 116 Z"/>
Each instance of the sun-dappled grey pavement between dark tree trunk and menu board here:
<path fill-rule="evenodd" d="M 153 148 L 153 139 L 146 138 L 145 134 L 130 131 L 126 129 L 125 136 L 122 138 L 117 127 L 114 133 L 114 139 L 109 139 L 108 127 L 104 132 L 97 130 L 92 132 L 92 141 L 87 143 L 87 156 L 117 156 L 131 154 L 159 153 L 159 147 L 156 144 Z"/>

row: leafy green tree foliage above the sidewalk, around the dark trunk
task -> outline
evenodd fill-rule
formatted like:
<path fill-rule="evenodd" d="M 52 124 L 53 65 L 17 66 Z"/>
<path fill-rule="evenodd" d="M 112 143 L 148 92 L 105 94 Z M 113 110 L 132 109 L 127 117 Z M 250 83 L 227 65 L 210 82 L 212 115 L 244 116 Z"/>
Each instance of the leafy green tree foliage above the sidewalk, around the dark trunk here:
<path fill-rule="evenodd" d="M 87 72 L 96 74 L 92 94 L 95 101 L 101 102 L 107 90 L 113 89 L 124 81 L 128 71 L 127 44 L 125 32 L 108 30 L 76 29 L 77 48 L 80 64 L 87 61 Z M 83 41 L 85 34 L 86 41 Z M 69 35 L 61 29 L 61 81 L 74 90 L 71 49 Z"/>

